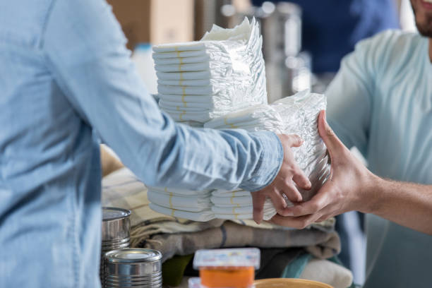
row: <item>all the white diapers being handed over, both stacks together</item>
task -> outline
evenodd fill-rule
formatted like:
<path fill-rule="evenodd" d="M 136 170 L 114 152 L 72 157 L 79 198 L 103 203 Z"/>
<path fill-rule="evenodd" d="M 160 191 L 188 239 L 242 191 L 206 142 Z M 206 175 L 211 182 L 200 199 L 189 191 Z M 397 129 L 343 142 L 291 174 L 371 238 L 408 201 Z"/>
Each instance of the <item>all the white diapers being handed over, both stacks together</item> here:
<path fill-rule="evenodd" d="M 318 135 L 318 112 L 325 97 L 300 92 L 267 104 L 265 66 L 258 23 L 245 18 L 234 29 L 213 26 L 196 42 L 153 47 L 159 105 L 175 121 L 196 127 L 243 128 L 247 131 L 296 133 L 304 139 L 294 157 L 312 183 L 299 189 L 310 199 L 330 174 L 325 145 Z M 148 188 L 150 208 L 165 215 L 195 221 L 253 217 L 248 191 L 189 191 Z M 286 199 L 287 200 L 287 199 Z M 289 205 L 289 200 L 287 200 Z M 276 210 L 265 200 L 264 220 Z"/>

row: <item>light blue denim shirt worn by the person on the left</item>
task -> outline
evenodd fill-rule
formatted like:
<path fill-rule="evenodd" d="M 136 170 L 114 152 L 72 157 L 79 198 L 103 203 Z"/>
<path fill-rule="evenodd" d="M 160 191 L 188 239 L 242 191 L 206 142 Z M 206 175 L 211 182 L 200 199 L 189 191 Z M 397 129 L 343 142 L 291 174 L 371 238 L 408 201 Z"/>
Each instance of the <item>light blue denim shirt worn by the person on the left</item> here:
<path fill-rule="evenodd" d="M 125 43 L 102 0 L 0 0 L 0 287 L 100 285 L 96 138 L 155 186 L 255 191 L 277 174 L 274 133 L 160 112 Z"/>

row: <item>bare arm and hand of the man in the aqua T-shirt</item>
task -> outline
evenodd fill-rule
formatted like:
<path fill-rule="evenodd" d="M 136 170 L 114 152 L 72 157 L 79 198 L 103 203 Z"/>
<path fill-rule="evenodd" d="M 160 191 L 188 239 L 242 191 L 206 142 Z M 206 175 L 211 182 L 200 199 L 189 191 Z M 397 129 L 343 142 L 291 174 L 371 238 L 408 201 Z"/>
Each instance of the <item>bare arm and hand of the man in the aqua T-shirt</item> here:
<path fill-rule="evenodd" d="M 330 179 L 315 197 L 287 208 L 272 221 L 304 228 L 351 210 L 373 213 L 397 224 L 432 234 L 432 186 L 396 182 L 372 174 L 337 138 L 325 121 L 318 129 L 332 160 Z"/>

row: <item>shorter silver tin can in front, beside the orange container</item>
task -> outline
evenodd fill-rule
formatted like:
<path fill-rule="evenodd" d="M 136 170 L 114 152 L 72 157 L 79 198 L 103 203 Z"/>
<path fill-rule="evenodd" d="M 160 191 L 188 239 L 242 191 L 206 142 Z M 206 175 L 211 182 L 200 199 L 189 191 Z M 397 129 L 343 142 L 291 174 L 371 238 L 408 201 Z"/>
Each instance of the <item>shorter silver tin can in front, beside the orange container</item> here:
<path fill-rule="evenodd" d="M 125 248 L 105 253 L 105 287 L 162 287 L 162 254 L 144 248 Z"/>

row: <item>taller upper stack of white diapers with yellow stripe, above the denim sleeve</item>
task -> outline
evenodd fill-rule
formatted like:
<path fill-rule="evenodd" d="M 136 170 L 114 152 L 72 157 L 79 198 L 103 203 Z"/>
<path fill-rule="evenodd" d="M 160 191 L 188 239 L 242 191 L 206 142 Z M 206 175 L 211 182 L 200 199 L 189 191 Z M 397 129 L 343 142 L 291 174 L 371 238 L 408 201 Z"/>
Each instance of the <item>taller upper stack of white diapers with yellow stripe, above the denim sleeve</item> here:
<path fill-rule="evenodd" d="M 214 25 L 200 41 L 153 47 L 161 109 L 205 123 L 267 103 L 262 42 L 256 20 L 245 18 L 233 29 Z"/>

